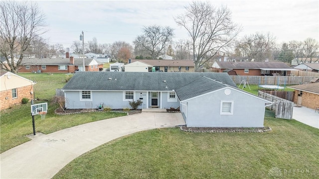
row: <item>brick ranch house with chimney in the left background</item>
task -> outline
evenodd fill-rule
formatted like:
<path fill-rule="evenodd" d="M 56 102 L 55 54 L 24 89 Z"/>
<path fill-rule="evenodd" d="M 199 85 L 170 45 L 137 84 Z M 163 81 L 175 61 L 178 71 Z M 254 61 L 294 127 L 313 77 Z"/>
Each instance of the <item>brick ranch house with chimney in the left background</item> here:
<path fill-rule="evenodd" d="M 102 71 L 103 63 L 85 58 L 85 71 Z M 74 58 L 66 53 L 66 58 L 23 58 L 18 72 L 75 73 L 82 71 L 83 58 Z"/>

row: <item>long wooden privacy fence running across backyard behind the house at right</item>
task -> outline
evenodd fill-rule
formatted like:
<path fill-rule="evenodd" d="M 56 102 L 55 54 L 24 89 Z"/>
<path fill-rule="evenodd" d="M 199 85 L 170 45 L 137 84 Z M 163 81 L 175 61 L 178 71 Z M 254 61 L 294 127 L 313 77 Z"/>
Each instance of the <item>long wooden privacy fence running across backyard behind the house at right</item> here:
<path fill-rule="evenodd" d="M 314 77 L 312 76 L 239 76 L 229 75 L 236 84 L 243 80 L 248 84 L 269 84 L 269 85 L 295 85 L 309 83 Z"/>

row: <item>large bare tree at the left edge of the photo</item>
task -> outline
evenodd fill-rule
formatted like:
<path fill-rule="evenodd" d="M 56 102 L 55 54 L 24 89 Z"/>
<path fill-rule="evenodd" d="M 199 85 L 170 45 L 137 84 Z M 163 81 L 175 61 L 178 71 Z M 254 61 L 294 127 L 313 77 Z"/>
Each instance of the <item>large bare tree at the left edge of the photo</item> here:
<path fill-rule="evenodd" d="M 31 41 L 45 31 L 44 14 L 32 1 L 0 1 L 1 68 L 16 73 Z"/>

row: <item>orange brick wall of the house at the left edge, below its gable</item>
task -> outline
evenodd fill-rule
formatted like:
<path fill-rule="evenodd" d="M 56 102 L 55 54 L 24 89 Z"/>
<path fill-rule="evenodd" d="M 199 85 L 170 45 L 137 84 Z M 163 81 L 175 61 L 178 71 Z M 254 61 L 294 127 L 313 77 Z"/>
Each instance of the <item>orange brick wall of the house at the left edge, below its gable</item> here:
<path fill-rule="evenodd" d="M 8 109 L 10 106 L 16 105 L 16 104 L 22 104 L 22 98 L 28 98 L 33 99 L 33 94 L 30 94 L 30 91 L 33 90 L 33 86 L 24 86 L 17 88 L 17 98 L 12 98 L 12 89 L 4 90 L 0 92 L 0 110 Z M 8 99 L 5 99 L 8 97 Z"/>

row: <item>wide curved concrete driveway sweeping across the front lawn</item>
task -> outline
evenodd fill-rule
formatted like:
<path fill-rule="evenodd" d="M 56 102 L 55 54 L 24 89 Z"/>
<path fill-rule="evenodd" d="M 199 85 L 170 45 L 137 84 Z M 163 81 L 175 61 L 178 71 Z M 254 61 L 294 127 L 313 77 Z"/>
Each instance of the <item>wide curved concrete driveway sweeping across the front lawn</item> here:
<path fill-rule="evenodd" d="M 109 141 L 177 125 L 185 125 L 181 113 L 143 112 L 31 135 L 31 141 L 0 154 L 0 178 L 49 179 L 73 159 Z"/>

